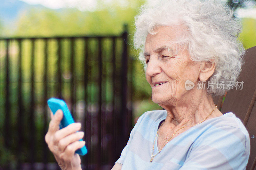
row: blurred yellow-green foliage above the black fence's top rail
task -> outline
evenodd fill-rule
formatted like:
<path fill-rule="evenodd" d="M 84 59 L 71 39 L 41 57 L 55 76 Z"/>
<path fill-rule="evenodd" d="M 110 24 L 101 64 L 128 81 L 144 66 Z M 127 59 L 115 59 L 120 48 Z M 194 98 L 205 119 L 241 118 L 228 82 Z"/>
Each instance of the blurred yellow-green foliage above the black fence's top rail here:
<path fill-rule="evenodd" d="M 143 1 L 136 1 L 138 6 L 120 8 L 115 3 L 100 11 L 79 11 L 77 9 L 38 10 L 33 9 L 23 14 L 17 22 L 15 35 L 18 36 L 56 36 L 88 34 L 120 34 L 123 24 L 132 28 L 136 10 Z M 131 3 L 132 4 L 132 3 Z M 131 28 L 129 28 L 131 30 Z"/>

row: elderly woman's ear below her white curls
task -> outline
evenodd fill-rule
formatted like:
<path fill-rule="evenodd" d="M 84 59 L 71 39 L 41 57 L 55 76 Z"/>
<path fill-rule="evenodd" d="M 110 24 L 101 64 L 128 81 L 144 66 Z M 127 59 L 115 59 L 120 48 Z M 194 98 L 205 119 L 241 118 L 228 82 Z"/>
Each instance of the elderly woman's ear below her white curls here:
<path fill-rule="evenodd" d="M 215 70 L 215 62 L 204 61 L 201 63 L 200 69 L 199 80 L 207 81 Z"/>

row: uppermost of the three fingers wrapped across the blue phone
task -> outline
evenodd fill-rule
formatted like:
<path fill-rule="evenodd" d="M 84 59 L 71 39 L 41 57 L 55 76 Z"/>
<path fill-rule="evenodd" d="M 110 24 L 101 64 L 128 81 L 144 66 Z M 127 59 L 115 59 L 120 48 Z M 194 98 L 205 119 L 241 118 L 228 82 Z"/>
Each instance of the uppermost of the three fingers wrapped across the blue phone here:
<path fill-rule="evenodd" d="M 76 131 L 78 131 L 79 129 L 81 129 L 81 124 L 80 123 L 72 123 L 69 124 L 67 127 L 60 129 L 59 131 L 56 131 L 55 133 L 55 138 L 57 141 L 59 141 L 60 139 L 75 133 Z"/>

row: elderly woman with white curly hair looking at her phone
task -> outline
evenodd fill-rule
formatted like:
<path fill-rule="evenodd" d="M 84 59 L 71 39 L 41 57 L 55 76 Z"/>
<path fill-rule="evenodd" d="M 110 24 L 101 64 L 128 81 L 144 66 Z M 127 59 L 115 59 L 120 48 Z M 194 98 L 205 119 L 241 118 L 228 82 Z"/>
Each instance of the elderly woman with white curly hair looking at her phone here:
<path fill-rule="evenodd" d="M 112 170 L 245 169 L 249 134 L 212 99 L 227 91 L 219 82 L 230 84 L 241 71 L 244 48 L 232 11 L 213 0 L 166 0 L 143 6 L 135 25 L 152 100 L 164 110 L 138 119 Z M 61 117 L 52 117 L 45 140 L 62 169 L 81 169 L 74 155 L 84 145 L 74 133 L 80 126 L 58 130 Z"/>

